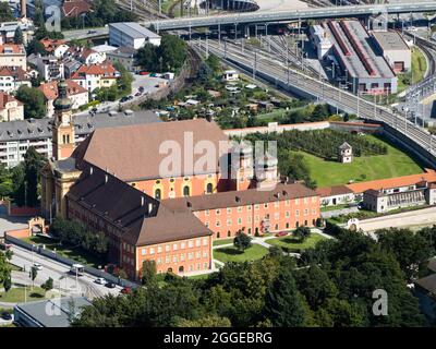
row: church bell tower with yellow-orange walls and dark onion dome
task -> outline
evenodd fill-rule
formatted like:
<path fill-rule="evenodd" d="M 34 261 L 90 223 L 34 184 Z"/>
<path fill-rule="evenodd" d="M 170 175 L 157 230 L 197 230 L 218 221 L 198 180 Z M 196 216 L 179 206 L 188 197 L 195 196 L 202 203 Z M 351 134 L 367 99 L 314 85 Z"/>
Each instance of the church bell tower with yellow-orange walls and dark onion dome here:
<path fill-rule="evenodd" d="M 75 147 L 72 101 L 68 97 L 68 85 L 64 80 L 58 83 L 58 98 L 55 99 L 55 124 L 52 131 L 53 157 L 63 160 L 73 154 Z"/>

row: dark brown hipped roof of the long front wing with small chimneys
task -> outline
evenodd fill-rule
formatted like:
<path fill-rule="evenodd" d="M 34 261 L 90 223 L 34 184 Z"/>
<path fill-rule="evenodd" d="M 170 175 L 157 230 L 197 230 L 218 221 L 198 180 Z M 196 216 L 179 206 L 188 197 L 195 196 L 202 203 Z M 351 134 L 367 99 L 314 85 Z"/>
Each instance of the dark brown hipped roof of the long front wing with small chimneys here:
<path fill-rule="evenodd" d="M 97 167 L 87 167 L 66 196 L 119 227 L 120 238 L 137 246 L 213 234 L 192 213 L 172 212 Z"/>

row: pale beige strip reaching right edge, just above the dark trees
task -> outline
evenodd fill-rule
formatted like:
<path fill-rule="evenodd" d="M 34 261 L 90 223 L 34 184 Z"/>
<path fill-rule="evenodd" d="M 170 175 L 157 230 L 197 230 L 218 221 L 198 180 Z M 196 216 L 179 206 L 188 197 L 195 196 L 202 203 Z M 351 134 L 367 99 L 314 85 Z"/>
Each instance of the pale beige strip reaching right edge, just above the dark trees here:
<path fill-rule="evenodd" d="M 432 226 L 436 224 L 436 207 L 411 210 L 397 215 L 371 218 L 360 221 L 360 229 L 371 232 L 385 228 L 405 228 L 414 226 Z"/>

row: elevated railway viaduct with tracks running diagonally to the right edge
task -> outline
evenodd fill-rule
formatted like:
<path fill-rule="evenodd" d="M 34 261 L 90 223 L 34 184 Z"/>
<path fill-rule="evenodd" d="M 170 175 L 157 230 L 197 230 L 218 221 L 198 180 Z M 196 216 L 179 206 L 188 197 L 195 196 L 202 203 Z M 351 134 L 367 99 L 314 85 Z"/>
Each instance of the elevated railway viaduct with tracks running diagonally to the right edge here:
<path fill-rule="evenodd" d="M 203 40 L 204 41 L 204 40 Z M 205 50 L 205 43 L 191 43 L 193 47 Z M 217 40 L 209 40 L 209 52 L 225 59 L 232 65 L 242 68 L 245 71 L 253 72 L 255 75 L 267 79 L 277 86 L 289 89 L 290 86 L 299 91 L 302 95 L 312 95 L 320 101 L 338 108 L 349 113 L 354 113 L 359 118 L 373 121 L 384 122 L 396 131 L 405 135 L 410 142 L 420 145 L 427 152 L 426 156 L 422 156 L 427 163 L 435 161 L 436 140 L 432 134 L 405 118 L 393 113 L 386 107 L 378 106 L 362 97 L 358 97 L 347 91 L 332 86 L 326 81 L 322 81 L 299 71 L 292 70 L 271 57 L 267 52 L 256 49 L 245 49 L 241 51 L 241 47 L 230 41 L 221 45 Z M 254 51 L 253 51 L 254 50 Z"/>

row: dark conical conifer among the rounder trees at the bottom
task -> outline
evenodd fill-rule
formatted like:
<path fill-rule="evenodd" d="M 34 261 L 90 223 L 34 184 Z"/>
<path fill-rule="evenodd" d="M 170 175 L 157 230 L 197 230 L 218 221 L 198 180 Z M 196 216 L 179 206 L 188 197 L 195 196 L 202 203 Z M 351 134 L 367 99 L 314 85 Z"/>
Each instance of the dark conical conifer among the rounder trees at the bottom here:
<path fill-rule="evenodd" d="M 277 327 L 299 327 L 306 321 L 304 300 L 289 268 L 278 275 L 265 299 L 265 316 Z"/>

